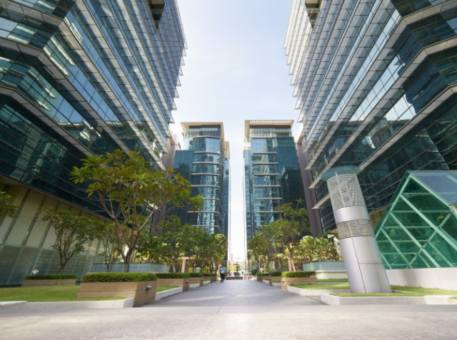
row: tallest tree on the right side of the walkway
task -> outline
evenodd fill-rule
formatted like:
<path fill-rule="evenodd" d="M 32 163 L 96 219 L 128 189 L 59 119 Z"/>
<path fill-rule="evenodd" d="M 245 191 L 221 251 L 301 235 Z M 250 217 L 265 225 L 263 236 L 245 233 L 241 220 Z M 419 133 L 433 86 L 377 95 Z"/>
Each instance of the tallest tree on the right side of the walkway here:
<path fill-rule="evenodd" d="M 294 272 L 296 271 L 296 267 L 293 262 L 293 257 L 295 256 L 295 248 L 298 239 L 303 232 L 309 232 L 311 230 L 307 226 L 308 211 L 305 208 L 300 207 L 300 205 L 303 205 L 303 200 L 300 199 L 296 202 L 295 208 L 292 207 L 292 203 L 286 203 L 276 207 L 275 211 L 278 212 L 281 217 L 269 223 L 269 228 L 273 231 L 274 238 L 277 242 L 281 242 L 283 247 L 287 250 Z"/>

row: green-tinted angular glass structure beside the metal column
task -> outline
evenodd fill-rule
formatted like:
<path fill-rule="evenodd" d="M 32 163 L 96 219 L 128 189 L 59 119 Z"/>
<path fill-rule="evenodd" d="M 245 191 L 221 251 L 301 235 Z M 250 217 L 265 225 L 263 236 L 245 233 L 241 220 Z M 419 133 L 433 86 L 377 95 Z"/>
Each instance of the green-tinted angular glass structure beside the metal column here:
<path fill-rule="evenodd" d="M 375 230 L 386 269 L 457 267 L 457 171 L 408 171 Z"/>

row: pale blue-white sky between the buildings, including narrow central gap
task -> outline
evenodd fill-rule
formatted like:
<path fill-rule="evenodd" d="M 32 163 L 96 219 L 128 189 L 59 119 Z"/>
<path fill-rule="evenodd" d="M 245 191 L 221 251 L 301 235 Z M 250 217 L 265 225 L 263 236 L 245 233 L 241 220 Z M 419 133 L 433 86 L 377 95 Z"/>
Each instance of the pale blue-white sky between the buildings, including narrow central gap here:
<path fill-rule="evenodd" d="M 243 256 L 244 120 L 298 118 L 283 49 L 291 0 L 178 0 L 187 56 L 174 132 L 181 121 L 222 121 L 231 151 L 231 249 Z M 297 133 L 299 124 L 293 125 Z"/>

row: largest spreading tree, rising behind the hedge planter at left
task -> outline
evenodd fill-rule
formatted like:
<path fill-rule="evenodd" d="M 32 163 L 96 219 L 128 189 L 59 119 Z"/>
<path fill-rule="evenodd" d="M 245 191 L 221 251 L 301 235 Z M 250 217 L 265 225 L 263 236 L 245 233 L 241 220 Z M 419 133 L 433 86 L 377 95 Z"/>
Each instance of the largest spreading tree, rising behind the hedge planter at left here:
<path fill-rule="evenodd" d="M 174 174 L 173 168 L 154 172 L 149 161 L 137 152 L 129 151 L 127 155 L 114 150 L 106 155 L 88 155 L 83 164 L 82 168 L 74 168 L 71 179 L 75 183 L 88 181 L 89 197 L 94 195 L 114 221 L 125 272 L 129 272 L 132 254 L 146 242 L 145 234 L 154 232 L 151 219 L 155 212 L 161 221 L 173 207 L 196 211 L 203 205 L 203 197 L 191 197 L 190 183 Z M 160 213 L 162 208 L 166 209 L 164 213 Z"/>

